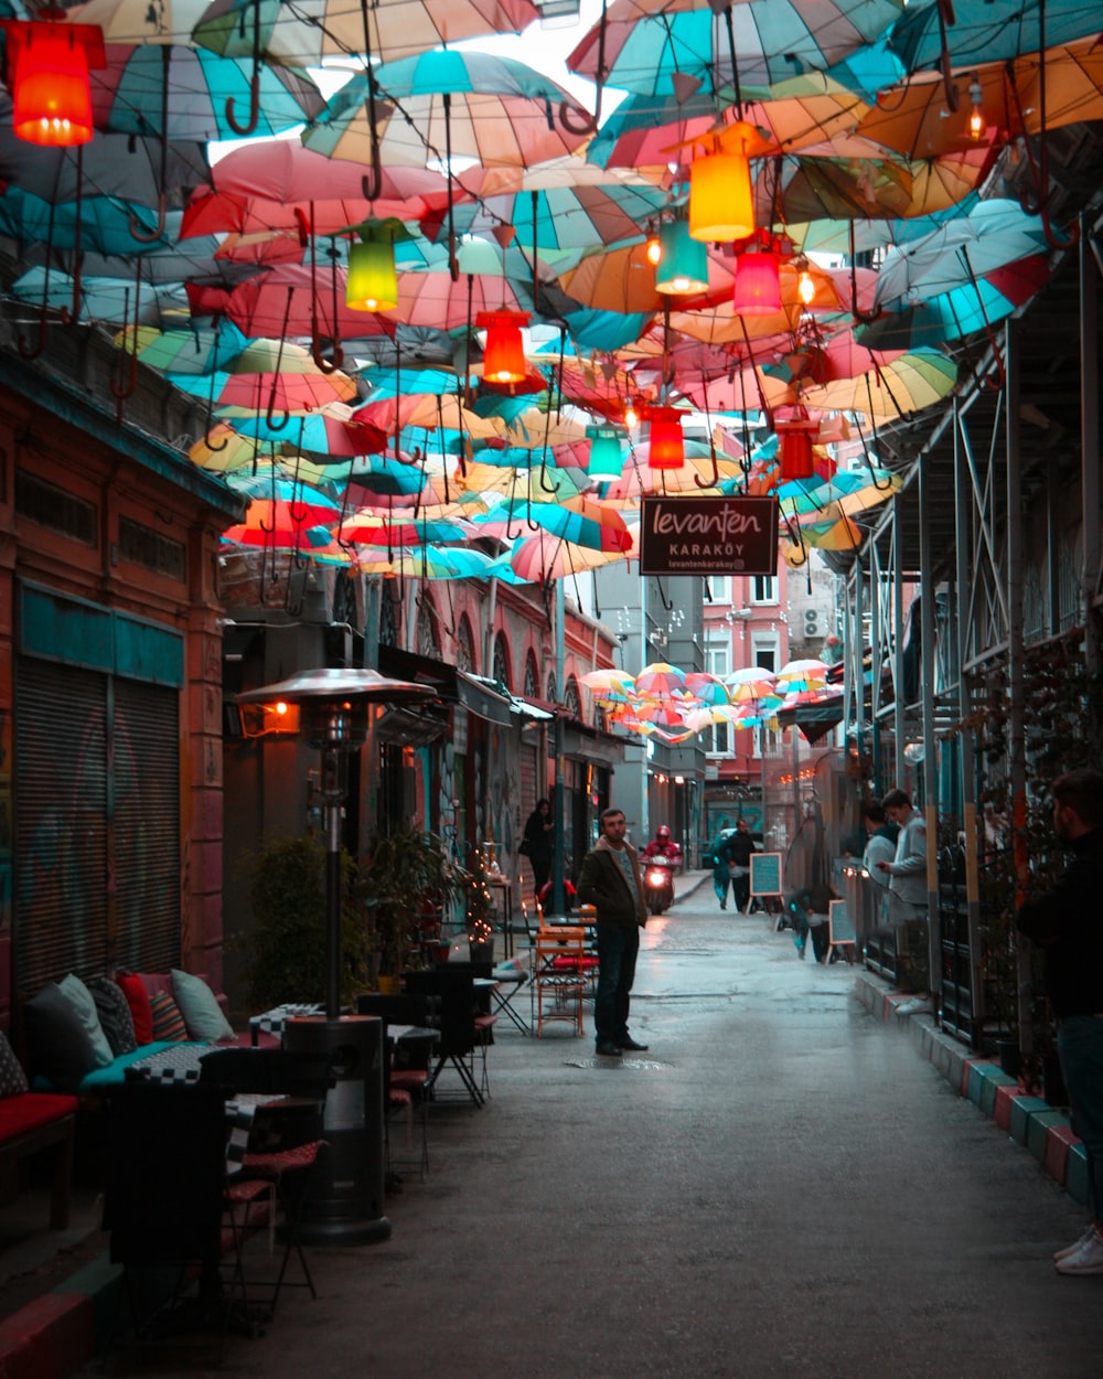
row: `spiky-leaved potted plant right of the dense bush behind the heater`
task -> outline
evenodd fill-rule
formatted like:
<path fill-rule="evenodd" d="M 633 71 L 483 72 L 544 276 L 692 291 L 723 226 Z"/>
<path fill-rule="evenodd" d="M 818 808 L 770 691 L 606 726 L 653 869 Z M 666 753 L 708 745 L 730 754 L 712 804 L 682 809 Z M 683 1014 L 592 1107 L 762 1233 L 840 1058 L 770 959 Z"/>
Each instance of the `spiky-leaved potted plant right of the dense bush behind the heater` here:
<path fill-rule="evenodd" d="M 371 838 L 356 891 L 378 960 L 376 985 L 397 983 L 419 940 L 426 906 L 444 914 L 461 881 L 461 870 L 436 833 L 407 823 Z"/>

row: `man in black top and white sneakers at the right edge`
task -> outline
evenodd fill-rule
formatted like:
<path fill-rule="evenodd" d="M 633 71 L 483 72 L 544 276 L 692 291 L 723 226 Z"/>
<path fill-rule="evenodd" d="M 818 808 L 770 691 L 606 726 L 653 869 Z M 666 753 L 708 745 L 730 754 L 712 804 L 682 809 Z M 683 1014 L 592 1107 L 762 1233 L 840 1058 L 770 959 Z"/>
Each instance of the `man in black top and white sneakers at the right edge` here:
<path fill-rule="evenodd" d="M 1067 771 L 1049 786 L 1053 832 L 1073 854 L 1046 891 L 1020 907 L 1016 927 L 1042 950 L 1058 1022 L 1060 1070 L 1073 1129 L 1088 1158 L 1092 1222 L 1058 1251 L 1062 1274 L 1103 1274 L 1103 772 Z"/>

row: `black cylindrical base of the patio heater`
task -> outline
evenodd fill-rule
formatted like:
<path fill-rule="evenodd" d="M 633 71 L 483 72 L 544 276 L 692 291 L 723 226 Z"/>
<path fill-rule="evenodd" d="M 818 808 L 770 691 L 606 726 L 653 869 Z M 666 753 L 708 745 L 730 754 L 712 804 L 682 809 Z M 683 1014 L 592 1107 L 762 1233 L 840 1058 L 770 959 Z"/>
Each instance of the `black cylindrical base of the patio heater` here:
<path fill-rule="evenodd" d="M 324 1145 L 310 1168 L 299 1238 L 314 1245 L 370 1245 L 390 1238 L 383 1212 L 383 1022 L 375 1015 L 299 1016 L 284 1047 L 330 1069 Z"/>

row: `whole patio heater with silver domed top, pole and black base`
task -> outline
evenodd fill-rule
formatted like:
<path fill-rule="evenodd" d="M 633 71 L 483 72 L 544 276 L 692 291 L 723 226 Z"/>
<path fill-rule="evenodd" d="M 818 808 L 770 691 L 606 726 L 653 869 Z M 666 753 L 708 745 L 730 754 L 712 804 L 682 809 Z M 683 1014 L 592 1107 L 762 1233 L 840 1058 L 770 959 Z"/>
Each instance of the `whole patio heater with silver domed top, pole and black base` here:
<path fill-rule="evenodd" d="M 389 680 L 376 670 L 303 670 L 237 696 L 239 703 L 299 706 L 301 731 L 321 752 L 325 832 L 325 1014 L 290 1019 L 291 1052 L 324 1063 L 325 1143 L 310 1169 L 299 1215 L 306 1244 L 367 1245 L 390 1237 L 383 1214 L 383 1040 L 374 1015 L 341 1014 L 341 815 L 349 756 L 368 736 L 376 705 L 434 698 L 427 685 Z"/>

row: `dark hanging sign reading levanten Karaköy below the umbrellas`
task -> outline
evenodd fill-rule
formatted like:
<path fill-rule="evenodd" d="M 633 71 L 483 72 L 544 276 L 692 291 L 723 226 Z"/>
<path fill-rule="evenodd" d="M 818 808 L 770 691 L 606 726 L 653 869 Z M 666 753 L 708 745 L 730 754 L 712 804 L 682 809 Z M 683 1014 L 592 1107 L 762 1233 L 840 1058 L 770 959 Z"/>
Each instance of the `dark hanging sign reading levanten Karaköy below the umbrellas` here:
<path fill-rule="evenodd" d="M 778 499 L 647 495 L 640 572 L 776 575 Z"/>

